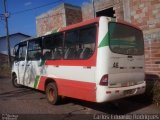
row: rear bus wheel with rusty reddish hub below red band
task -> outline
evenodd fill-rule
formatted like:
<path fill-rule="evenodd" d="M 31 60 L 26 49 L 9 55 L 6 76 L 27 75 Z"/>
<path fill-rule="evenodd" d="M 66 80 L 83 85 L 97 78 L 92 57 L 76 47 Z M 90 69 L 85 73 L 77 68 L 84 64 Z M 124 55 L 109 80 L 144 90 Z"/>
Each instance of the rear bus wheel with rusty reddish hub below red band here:
<path fill-rule="evenodd" d="M 58 103 L 60 96 L 58 95 L 58 90 L 55 83 L 52 82 L 46 86 L 46 97 L 49 103 L 53 105 Z"/>

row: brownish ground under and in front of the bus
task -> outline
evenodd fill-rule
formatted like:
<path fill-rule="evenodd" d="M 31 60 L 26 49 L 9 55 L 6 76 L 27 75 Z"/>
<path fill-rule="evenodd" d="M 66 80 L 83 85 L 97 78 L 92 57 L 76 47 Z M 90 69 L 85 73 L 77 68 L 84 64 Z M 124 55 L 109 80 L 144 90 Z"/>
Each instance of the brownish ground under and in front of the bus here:
<path fill-rule="evenodd" d="M 88 117 L 98 119 L 96 115 L 137 115 L 160 114 L 160 107 L 142 96 L 125 98 L 109 103 L 92 103 L 64 98 L 59 105 L 47 102 L 45 94 L 30 88 L 14 88 L 9 78 L 0 78 L 0 114 L 2 118 L 24 117 L 41 119 L 58 117 L 59 119 L 77 119 Z M 8 117 L 7 116 L 7 117 Z M 111 116 L 110 116 L 111 117 Z M 107 119 L 107 116 L 106 116 Z"/>

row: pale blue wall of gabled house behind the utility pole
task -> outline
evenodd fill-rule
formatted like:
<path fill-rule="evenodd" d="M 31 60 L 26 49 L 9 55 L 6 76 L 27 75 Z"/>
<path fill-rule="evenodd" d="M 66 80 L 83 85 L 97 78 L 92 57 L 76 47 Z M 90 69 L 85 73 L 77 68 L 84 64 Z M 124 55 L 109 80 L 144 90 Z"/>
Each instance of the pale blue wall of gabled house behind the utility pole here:
<path fill-rule="evenodd" d="M 28 37 L 31 37 L 31 36 L 23 34 L 23 33 L 14 33 L 14 34 L 10 34 L 9 35 L 10 47 L 11 47 L 11 55 L 13 55 L 12 51 L 13 51 L 14 46 L 17 43 L 19 43 L 20 41 L 22 41 L 22 40 L 24 40 L 24 39 L 26 39 Z M 8 49 L 7 49 L 6 36 L 2 36 L 2 37 L 0 37 L 0 53 L 8 54 L 7 50 Z"/>

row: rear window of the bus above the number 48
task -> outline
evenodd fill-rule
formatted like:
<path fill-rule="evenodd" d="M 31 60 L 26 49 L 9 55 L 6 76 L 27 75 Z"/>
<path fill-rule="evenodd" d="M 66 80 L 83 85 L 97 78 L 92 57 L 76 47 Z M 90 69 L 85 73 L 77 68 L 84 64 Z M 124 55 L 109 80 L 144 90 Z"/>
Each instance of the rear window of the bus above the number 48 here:
<path fill-rule="evenodd" d="M 109 47 L 112 52 L 118 54 L 143 55 L 142 31 L 125 24 L 110 22 Z"/>

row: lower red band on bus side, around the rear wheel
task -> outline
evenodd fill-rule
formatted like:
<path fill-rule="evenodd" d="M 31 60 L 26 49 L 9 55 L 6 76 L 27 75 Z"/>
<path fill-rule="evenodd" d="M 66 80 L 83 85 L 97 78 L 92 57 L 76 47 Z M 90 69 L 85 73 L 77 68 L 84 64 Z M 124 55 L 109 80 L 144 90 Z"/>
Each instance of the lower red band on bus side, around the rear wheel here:
<path fill-rule="evenodd" d="M 41 77 L 38 86 L 39 90 L 44 91 L 46 79 L 47 77 Z M 96 83 L 65 79 L 54 80 L 56 81 L 59 95 L 96 102 Z"/>

